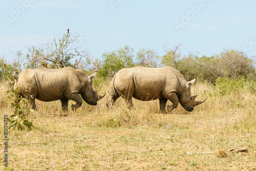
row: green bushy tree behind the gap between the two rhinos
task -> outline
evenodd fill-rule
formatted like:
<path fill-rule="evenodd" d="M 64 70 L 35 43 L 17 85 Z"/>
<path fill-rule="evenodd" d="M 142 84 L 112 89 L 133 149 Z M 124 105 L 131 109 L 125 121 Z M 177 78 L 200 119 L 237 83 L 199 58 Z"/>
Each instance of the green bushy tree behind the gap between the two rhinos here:
<path fill-rule="evenodd" d="M 113 77 L 122 68 L 130 68 L 133 63 L 134 49 L 124 46 L 117 51 L 111 53 L 103 53 L 103 64 L 98 74 L 104 78 Z"/>

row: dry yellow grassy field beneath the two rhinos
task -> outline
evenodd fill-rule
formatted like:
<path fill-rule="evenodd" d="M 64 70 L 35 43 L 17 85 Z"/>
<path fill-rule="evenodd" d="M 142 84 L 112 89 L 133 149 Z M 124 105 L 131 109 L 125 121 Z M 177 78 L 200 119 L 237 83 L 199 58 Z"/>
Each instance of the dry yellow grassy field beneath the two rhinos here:
<path fill-rule="evenodd" d="M 1 162 L 0 170 L 256 170 L 256 93 L 248 87 L 197 82 L 191 94 L 208 96 L 204 103 L 193 112 L 179 105 L 159 114 L 157 100 L 134 100 L 128 110 L 119 98 L 108 110 L 109 84 L 95 86 L 107 92 L 97 106 L 83 103 L 73 112 L 69 104 L 68 116 L 46 115 L 63 114 L 60 102 L 37 100 L 44 114 L 30 114 L 31 131 L 9 131 L 8 167 Z M 13 113 L 9 89 L 0 84 L 1 142 L 4 115 Z M 228 153 L 241 147 L 248 152 Z M 227 157 L 218 157 L 217 149 Z"/>

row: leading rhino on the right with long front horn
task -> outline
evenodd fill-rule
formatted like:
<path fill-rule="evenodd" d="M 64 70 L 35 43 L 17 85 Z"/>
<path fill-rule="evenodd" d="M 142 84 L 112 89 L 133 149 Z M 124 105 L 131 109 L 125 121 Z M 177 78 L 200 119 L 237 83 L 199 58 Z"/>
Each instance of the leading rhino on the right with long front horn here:
<path fill-rule="evenodd" d="M 187 82 L 184 76 L 172 67 L 162 68 L 124 68 L 116 73 L 110 84 L 110 98 L 106 105 L 112 107 L 118 97 L 124 98 L 127 105 L 133 105 L 132 97 L 138 100 L 159 99 L 160 111 L 165 111 L 167 100 L 173 105 L 170 110 L 177 108 L 179 102 L 186 111 L 193 111 L 196 105 L 206 100 L 195 101 L 191 96 L 190 85 L 196 79 Z"/>

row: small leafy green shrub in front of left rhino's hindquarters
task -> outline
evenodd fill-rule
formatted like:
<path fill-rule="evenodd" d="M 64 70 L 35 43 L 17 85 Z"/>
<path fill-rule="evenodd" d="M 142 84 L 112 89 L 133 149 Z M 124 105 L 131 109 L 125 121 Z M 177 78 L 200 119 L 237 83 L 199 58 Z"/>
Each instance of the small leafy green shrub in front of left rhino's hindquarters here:
<path fill-rule="evenodd" d="M 7 98 L 9 98 L 10 104 L 14 108 L 13 115 L 8 118 L 10 122 L 9 129 L 25 130 L 26 128 L 31 130 L 33 126 L 32 122 L 28 120 L 28 116 L 31 112 L 24 104 L 20 105 L 19 101 L 21 98 L 15 90 L 7 92 Z"/>

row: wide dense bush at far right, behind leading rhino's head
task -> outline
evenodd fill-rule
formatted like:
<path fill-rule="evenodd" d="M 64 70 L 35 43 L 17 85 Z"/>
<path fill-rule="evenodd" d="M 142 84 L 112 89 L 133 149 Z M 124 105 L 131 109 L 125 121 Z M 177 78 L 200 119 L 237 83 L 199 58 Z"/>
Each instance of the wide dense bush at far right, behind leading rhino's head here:
<path fill-rule="evenodd" d="M 215 56 L 190 54 L 176 61 L 176 69 L 184 75 L 186 80 L 197 78 L 201 81 L 216 83 L 218 77 L 237 79 L 249 75 L 256 77 L 253 62 L 246 54 L 237 50 L 226 50 Z"/>

